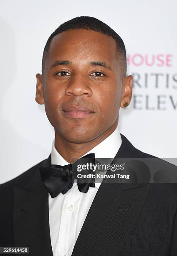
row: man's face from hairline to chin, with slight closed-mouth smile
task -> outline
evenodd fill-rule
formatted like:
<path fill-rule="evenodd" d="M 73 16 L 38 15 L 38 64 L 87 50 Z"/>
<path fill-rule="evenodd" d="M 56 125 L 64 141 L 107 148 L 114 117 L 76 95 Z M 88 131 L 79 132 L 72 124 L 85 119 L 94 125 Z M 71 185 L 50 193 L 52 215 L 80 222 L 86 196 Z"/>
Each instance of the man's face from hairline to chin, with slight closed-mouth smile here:
<path fill-rule="evenodd" d="M 67 141 L 92 141 L 118 119 L 124 82 L 113 38 L 70 30 L 51 41 L 36 101 L 45 103 L 55 132 Z M 123 93 L 124 95 L 124 93 Z"/>

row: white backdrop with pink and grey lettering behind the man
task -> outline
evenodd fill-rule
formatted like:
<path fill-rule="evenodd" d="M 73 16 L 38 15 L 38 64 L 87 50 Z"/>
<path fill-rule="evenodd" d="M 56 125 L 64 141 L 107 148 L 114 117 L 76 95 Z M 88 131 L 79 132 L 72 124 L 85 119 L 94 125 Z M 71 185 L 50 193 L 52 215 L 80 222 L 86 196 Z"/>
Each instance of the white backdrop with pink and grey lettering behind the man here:
<path fill-rule="evenodd" d="M 53 127 L 35 102 L 35 74 L 50 34 L 81 15 L 104 21 L 126 45 L 135 83 L 120 132 L 146 153 L 177 158 L 176 10 L 175 0 L 1 0 L 0 183 L 51 152 Z"/>

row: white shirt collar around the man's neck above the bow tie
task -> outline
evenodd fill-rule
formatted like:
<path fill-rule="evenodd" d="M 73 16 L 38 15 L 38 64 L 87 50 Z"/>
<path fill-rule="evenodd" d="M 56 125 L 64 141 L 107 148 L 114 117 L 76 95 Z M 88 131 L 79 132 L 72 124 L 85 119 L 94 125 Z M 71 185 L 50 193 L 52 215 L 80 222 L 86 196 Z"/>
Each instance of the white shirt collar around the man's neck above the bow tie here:
<path fill-rule="evenodd" d="M 110 158 L 114 159 L 114 157 L 117 154 L 117 151 L 119 150 L 121 146 L 122 140 L 121 135 L 119 133 L 118 127 L 114 130 L 111 135 L 109 135 L 104 141 L 101 141 L 98 145 L 96 145 L 94 148 L 92 148 L 90 151 L 88 151 L 83 156 L 95 153 L 95 158 Z M 82 157 L 82 156 L 81 156 Z M 55 147 L 55 138 L 52 142 L 52 151 L 51 151 L 51 164 L 58 164 L 58 165 L 66 165 L 69 164 L 61 154 L 58 153 Z M 95 186 L 99 188 L 101 183 L 95 183 Z"/>

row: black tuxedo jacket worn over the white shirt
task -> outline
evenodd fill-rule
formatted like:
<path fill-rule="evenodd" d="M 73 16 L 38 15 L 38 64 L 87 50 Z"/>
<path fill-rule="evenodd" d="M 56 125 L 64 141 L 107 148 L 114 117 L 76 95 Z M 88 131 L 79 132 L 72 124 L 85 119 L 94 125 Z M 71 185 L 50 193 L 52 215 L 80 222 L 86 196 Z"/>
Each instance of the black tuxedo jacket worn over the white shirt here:
<path fill-rule="evenodd" d="M 152 157 L 121 138 L 115 159 Z M 39 172 L 46 164 L 51 155 L 0 185 L 1 247 L 26 246 L 30 256 L 53 256 L 48 191 Z M 172 168 L 167 162 L 164 166 Z M 72 256 L 176 256 L 176 212 L 177 184 L 102 182 Z"/>

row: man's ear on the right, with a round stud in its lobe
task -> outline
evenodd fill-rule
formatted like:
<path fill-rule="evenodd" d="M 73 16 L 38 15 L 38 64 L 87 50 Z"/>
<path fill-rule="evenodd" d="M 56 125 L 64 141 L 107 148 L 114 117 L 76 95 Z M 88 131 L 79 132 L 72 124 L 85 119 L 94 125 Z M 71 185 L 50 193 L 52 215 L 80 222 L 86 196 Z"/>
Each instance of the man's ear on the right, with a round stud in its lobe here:
<path fill-rule="evenodd" d="M 121 98 L 121 108 L 124 107 L 124 102 L 127 102 L 128 105 L 130 104 L 131 101 L 131 96 L 132 96 L 132 85 L 133 85 L 133 77 L 128 76 L 124 77 L 123 79 L 123 92 L 122 92 L 122 98 Z"/>

